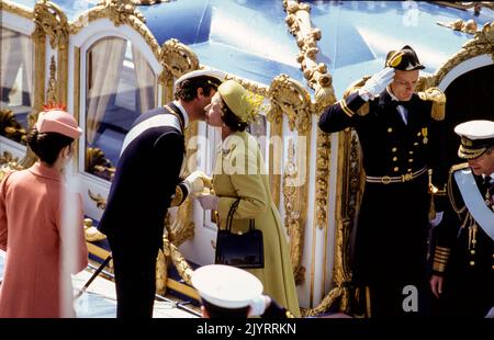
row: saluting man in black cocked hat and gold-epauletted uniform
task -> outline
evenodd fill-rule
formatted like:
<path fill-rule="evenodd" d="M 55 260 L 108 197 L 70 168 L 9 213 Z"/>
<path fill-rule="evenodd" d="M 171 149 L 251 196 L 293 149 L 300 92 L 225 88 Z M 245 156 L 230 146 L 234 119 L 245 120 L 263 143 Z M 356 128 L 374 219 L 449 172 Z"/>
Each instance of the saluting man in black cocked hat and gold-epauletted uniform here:
<path fill-rule="evenodd" d="M 326 107 L 326 133 L 352 127 L 363 155 L 366 190 L 358 217 L 352 283 L 368 317 L 424 315 L 427 230 L 433 182 L 444 189 L 442 120 L 437 89 L 415 93 L 424 69 L 409 46 L 388 54 L 385 68 Z"/>

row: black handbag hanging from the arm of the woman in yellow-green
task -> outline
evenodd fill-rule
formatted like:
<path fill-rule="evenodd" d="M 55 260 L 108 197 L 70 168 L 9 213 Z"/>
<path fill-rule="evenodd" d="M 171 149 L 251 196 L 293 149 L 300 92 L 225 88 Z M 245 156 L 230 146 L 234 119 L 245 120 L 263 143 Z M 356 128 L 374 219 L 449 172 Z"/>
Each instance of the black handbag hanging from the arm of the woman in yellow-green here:
<path fill-rule="evenodd" d="M 218 229 L 214 262 L 237 268 L 263 268 L 265 250 L 262 231 L 255 228 L 250 219 L 249 230 L 243 234 L 232 233 L 232 220 L 240 199 L 234 202 L 226 217 L 226 229 Z"/>

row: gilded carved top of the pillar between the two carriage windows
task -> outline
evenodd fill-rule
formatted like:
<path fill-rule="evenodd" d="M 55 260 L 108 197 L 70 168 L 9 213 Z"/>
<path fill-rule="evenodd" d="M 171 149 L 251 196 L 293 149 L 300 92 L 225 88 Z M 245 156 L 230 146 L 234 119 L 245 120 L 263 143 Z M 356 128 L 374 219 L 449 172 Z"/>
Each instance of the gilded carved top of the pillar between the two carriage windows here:
<path fill-rule="evenodd" d="M 67 15 L 53 2 L 41 0 L 34 5 L 33 36 L 48 35 L 52 48 L 68 46 Z"/>

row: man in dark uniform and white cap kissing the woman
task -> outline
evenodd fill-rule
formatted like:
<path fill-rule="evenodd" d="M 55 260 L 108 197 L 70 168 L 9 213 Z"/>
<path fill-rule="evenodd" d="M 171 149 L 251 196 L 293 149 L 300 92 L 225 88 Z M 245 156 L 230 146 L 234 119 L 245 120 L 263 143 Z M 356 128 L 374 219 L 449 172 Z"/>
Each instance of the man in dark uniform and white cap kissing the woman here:
<path fill-rule="evenodd" d="M 156 258 L 162 247 L 164 223 L 173 200 L 201 192 L 204 175 L 184 181 L 184 129 L 204 120 L 224 75 L 197 70 L 176 81 L 176 100 L 141 115 L 125 136 L 106 208 L 99 230 L 108 236 L 113 256 L 116 316 L 153 317 Z"/>

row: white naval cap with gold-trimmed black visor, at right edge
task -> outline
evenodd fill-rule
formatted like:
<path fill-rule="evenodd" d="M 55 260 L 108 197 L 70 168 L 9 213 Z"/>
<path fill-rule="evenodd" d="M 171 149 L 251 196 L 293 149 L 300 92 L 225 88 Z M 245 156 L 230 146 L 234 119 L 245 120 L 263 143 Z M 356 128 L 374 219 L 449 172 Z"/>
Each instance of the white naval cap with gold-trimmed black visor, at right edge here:
<path fill-rule="evenodd" d="M 482 156 L 494 145 L 494 122 L 469 121 L 454 127 L 454 133 L 461 137 L 458 156 L 464 159 L 473 159 Z"/>

